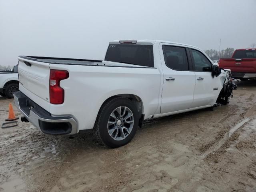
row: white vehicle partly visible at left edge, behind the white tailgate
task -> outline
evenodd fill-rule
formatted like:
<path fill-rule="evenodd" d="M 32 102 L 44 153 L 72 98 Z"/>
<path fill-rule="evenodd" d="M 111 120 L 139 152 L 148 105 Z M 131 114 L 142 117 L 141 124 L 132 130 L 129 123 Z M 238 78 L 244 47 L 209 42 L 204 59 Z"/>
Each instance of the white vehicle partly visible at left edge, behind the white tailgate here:
<path fill-rule="evenodd" d="M 13 93 L 19 90 L 18 66 L 13 70 L 0 71 L 0 96 L 13 98 Z"/>

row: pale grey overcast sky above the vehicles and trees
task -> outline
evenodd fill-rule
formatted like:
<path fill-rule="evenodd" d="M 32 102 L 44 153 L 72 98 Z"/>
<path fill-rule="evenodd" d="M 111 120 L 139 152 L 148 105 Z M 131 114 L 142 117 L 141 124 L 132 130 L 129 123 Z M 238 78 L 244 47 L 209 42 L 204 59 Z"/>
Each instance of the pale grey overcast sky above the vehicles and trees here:
<path fill-rule="evenodd" d="M 256 0 L 0 0 L 0 64 L 18 55 L 102 60 L 114 39 L 248 48 L 255 13 Z"/>

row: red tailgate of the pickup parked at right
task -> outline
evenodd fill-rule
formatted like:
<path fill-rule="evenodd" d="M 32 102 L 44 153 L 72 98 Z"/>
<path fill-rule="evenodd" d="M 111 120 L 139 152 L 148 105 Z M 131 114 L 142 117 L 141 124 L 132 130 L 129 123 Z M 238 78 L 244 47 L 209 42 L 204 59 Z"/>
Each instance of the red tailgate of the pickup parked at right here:
<path fill-rule="evenodd" d="M 243 58 L 243 59 L 220 59 L 220 67 L 224 69 L 230 69 L 231 72 L 256 72 L 256 59 Z"/>

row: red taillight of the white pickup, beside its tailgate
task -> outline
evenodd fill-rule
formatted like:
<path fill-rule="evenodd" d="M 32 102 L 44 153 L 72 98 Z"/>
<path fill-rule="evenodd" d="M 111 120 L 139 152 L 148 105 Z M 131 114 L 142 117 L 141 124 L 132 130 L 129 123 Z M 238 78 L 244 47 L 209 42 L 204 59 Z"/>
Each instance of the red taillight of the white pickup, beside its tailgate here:
<path fill-rule="evenodd" d="M 68 71 L 50 70 L 50 103 L 62 104 L 64 102 L 64 89 L 60 87 L 60 81 L 68 78 Z"/>

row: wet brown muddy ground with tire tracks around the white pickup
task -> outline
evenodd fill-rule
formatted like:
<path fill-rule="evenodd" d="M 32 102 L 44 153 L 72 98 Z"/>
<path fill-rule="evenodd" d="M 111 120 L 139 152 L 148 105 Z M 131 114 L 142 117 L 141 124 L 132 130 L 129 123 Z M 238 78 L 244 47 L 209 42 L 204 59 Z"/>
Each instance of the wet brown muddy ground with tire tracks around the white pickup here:
<path fill-rule="evenodd" d="M 1 123 L 9 103 L 0 97 Z M 0 128 L 0 192 L 23 191 L 256 191 L 256 80 L 240 82 L 230 103 L 214 111 L 145 122 L 116 149 L 90 132 L 47 136 L 20 120 Z"/>

